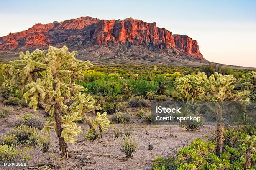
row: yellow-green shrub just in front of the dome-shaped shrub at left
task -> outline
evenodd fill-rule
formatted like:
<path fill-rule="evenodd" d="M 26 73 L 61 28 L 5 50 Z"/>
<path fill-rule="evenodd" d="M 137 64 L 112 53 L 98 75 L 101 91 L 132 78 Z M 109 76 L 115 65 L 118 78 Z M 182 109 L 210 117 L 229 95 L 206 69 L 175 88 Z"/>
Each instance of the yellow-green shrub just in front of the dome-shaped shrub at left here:
<path fill-rule="evenodd" d="M 35 145 L 37 132 L 38 130 L 36 128 L 30 128 L 29 126 L 18 126 L 13 128 L 9 134 L 15 135 L 18 139 L 18 143 Z"/>

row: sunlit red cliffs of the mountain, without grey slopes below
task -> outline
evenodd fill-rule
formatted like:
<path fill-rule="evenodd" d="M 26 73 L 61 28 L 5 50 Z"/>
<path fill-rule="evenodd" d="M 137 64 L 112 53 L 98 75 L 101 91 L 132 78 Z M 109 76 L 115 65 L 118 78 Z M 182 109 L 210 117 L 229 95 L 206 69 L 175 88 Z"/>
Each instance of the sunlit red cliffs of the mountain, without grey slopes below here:
<path fill-rule="evenodd" d="M 186 35 L 172 35 L 156 23 L 126 18 L 125 20 L 99 20 L 80 17 L 62 22 L 36 24 L 32 28 L 0 37 L 0 50 L 20 51 L 49 45 L 84 50 L 93 46 L 143 46 L 152 51 L 177 48 L 180 52 L 203 59 L 196 40 Z"/>

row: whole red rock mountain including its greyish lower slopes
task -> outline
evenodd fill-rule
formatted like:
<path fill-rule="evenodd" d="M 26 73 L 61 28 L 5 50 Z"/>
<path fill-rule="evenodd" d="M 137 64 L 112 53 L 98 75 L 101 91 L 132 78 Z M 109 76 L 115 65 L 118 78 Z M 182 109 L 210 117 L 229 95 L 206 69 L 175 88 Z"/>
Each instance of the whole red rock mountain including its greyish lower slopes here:
<path fill-rule="evenodd" d="M 36 24 L 28 30 L 0 37 L 2 54 L 44 49 L 49 45 L 66 45 L 71 50 L 78 50 L 80 58 L 89 60 L 118 58 L 160 63 L 160 58 L 168 60 L 166 63 L 172 62 L 173 58 L 205 60 L 196 40 L 187 35 L 172 35 L 165 28 L 156 27 L 156 23 L 133 18 L 99 20 L 80 17 L 60 23 Z"/>

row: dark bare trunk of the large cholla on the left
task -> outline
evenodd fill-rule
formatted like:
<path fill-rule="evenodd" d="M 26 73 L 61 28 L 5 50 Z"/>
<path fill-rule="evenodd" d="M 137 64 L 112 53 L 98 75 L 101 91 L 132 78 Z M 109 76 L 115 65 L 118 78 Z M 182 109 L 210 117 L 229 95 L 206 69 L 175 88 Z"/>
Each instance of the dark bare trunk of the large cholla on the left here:
<path fill-rule="evenodd" d="M 65 143 L 64 138 L 61 136 L 63 128 L 61 128 L 62 120 L 61 120 L 61 106 L 56 104 L 54 107 L 54 118 L 56 121 L 56 133 L 59 138 L 59 150 L 61 152 L 61 157 L 69 158 L 67 143 Z"/>

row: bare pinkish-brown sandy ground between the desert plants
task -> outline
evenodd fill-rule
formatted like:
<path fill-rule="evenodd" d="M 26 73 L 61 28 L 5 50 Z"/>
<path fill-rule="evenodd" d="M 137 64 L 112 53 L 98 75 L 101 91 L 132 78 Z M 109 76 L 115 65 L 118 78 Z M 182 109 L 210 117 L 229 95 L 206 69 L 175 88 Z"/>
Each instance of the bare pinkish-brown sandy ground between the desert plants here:
<path fill-rule="evenodd" d="M 2 103 L 0 103 L 2 105 Z M 147 125 L 135 118 L 135 111 L 131 110 L 133 116 L 129 125 L 133 129 L 133 138 L 139 143 L 138 150 L 133 158 L 125 160 L 125 154 L 120 151 L 120 140 L 123 136 L 115 138 L 114 126 L 123 129 L 123 124 L 111 124 L 102 139 L 93 142 L 87 141 L 84 134 L 80 134 L 77 144 L 68 144 L 70 158 L 61 159 L 59 153 L 59 142 L 54 131 L 51 132 L 52 146 L 46 153 L 36 147 L 31 153 L 32 159 L 28 162 L 28 167 L 33 169 L 45 169 L 46 165 L 51 169 L 61 170 L 151 170 L 152 161 L 161 157 L 171 157 L 174 150 L 184 147 L 195 138 L 205 139 L 205 135 L 210 135 L 214 130 L 212 126 L 203 126 L 196 131 L 187 131 L 178 126 L 156 126 Z M 47 117 L 44 110 L 33 111 L 31 108 L 13 107 L 11 115 L 6 119 L 0 118 L 0 135 L 8 133 L 16 120 L 25 113 L 35 113 L 43 120 Z M 85 124 L 78 124 L 82 130 L 88 127 Z M 170 133 L 172 135 L 170 135 Z M 153 150 L 147 150 L 145 138 L 151 137 L 154 140 Z M 39 167 L 38 167 L 39 166 Z M 48 166 L 48 167 L 49 167 Z M 3 168 L 8 170 L 28 169 L 26 168 Z"/>

